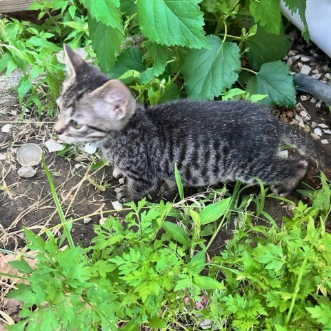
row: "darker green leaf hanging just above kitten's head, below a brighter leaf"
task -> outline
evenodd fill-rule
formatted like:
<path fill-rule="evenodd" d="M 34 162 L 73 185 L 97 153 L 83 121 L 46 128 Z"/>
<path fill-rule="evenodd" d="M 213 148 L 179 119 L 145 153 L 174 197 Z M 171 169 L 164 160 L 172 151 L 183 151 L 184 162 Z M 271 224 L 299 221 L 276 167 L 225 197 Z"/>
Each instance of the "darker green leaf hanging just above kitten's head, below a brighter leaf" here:
<path fill-rule="evenodd" d="M 123 34 L 118 29 L 97 22 L 88 15 L 88 28 L 92 46 L 97 53 L 99 66 L 103 72 L 111 72 L 115 59 L 121 51 Z"/>

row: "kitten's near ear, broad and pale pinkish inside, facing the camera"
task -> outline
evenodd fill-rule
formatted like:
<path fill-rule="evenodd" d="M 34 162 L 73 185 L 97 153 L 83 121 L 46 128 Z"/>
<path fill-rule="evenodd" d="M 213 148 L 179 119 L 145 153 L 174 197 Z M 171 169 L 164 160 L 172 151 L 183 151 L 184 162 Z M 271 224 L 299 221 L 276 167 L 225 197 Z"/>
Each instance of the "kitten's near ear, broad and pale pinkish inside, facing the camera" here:
<path fill-rule="evenodd" d="M 94 109 L 106 110 L 112 119 L 131 116 L 136 101 L 130 90 L 118 79 L 111 79 L 90 93 Z"/>

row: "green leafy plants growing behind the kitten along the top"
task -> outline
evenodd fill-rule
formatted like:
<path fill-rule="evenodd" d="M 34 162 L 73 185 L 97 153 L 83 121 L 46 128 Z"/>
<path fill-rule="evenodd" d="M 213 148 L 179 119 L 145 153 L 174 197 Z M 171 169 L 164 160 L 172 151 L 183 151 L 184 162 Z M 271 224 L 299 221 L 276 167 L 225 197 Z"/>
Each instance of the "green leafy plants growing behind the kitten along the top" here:
<path fill-rule="evenodd" d="M 305 21 L 305 1 L 285 3 Z M 214 99 L 237 84 L 264 94 L 263 103 L 295 104 L 292 77 L 279 61 L 290 43 L 277 0 L 43 0 L 31 9 L 40 24 L 1 21 L 0 71 L 23 70 L 19 101 L 27 97 L 25 107 L 39 113 L 47 106 L 54 114 L 64 69 L 54 52 L 63 42 L 93 56 L 92 45 L 101 70 L 130 84 L 141 102 Z M 241 68 L 243 59 L 249 66 Z"/>

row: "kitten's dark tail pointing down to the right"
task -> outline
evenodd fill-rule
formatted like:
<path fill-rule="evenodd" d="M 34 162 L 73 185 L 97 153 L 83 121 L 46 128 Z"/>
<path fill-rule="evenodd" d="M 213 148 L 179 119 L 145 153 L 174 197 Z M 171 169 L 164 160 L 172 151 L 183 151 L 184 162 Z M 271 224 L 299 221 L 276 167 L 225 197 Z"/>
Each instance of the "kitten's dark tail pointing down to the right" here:
<path fill-rule="evenodd" d="M 300 154 L 310 159 L 310 161 L 317 165 L 317 168 L 326 167 L 326 155 L 321 143 L 309 137 L 308 134 L 301 134 L 301 132 L 285 126 L 281 141 L 292 146 Z"/>

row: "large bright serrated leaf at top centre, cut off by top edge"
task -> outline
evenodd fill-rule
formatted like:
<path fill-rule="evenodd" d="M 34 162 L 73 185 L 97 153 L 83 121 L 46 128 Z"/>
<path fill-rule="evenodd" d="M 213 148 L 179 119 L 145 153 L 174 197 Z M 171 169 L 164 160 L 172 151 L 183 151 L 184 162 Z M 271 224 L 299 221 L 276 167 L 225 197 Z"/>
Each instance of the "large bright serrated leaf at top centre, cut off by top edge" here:
<path fill-rule="evenodd" d="M 161 45 L 208 48 L 199 2 L 201 0 L 139 0 L 137 13 L 141 31 L 150 41 Z"/>

